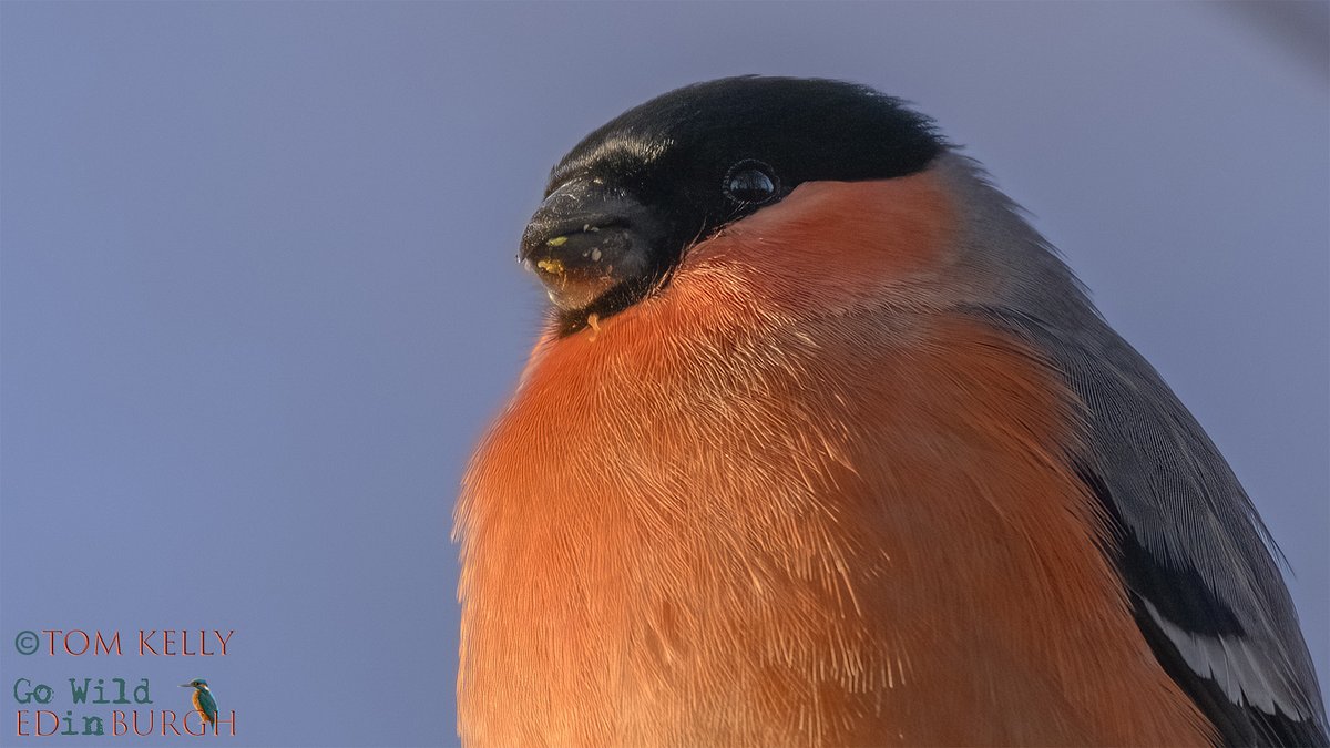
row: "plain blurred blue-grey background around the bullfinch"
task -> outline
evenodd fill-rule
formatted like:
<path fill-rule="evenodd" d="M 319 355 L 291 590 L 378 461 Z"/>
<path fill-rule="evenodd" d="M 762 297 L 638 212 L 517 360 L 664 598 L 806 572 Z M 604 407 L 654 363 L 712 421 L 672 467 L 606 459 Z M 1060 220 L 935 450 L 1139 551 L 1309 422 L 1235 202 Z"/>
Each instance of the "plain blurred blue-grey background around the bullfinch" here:
<path fill-rule="evenodd" d="M 112 676 L 181 711 L 207 677 L 235 745 L 454 743 L 450 514 L 541 318 L 525 218 L 593 126 L 738 73 L 874 85 L 987 164 L 1233 463 L 1330 677 L 1326 19 L 0 4 L 0 743 L 15 679 Z"/>

